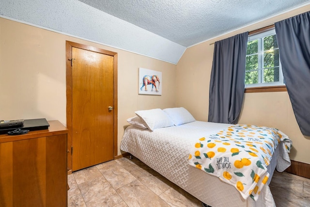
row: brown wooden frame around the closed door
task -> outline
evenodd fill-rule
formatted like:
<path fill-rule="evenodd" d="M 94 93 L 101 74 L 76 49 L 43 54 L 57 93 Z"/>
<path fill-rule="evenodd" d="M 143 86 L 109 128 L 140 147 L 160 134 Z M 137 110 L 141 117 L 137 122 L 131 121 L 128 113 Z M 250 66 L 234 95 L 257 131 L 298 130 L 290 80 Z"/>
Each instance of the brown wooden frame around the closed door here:
<path fill-rule="evenodd" d="M 66 41 L 66 97 L 67 97 L 67 106 L 66 106 L 66 115 L 67 115 L 67 128 L 68 131 L 68 174 L 72 173 L 72 48 L 80 48 L 93 52 L 102 53 L 105 55 L 110 55 L 114 57 L 113 63 L 113 111 L 114 111 L 114 123 L 113 123 L 113 157 L 117 156 L 117 53 L 105 49 L 95 48 L 92 46 L 87 46 L 75 42 Z M 74 61 L 73 61 L 74 64 Z"/>

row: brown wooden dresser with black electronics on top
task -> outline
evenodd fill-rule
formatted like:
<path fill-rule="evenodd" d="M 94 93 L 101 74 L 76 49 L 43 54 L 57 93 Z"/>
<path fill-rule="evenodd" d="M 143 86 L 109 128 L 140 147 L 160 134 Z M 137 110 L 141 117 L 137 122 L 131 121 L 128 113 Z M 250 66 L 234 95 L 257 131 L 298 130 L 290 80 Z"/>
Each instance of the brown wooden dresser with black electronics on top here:
<path fill-rule="evenodd" d="M 0 207 L 67 206 L 67 133 L 59 121 L 0 135 Z"/>

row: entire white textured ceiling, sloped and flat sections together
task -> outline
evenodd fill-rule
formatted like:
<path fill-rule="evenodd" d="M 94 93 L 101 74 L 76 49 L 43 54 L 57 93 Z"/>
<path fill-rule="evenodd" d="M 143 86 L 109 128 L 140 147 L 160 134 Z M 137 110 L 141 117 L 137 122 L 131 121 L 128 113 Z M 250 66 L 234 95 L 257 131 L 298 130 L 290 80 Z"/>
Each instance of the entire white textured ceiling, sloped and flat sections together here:
<path fill-rule="evenodd" d="M 177 64 L 187 47 L 310 0 L 1 0 L 0 17 Z"/>

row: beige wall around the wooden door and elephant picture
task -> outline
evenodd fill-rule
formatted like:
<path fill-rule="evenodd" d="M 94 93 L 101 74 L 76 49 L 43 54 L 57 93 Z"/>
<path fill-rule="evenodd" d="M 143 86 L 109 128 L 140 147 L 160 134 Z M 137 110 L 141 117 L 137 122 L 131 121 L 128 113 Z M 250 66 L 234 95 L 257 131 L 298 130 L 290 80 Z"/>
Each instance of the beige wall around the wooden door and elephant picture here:
<path fill-rule="evenodd" d="M 134 111 L 175 106 L 175 64 L 0 18 L 0 119 L 66 125 L 66 40 L 118 53 L 118 154 Z M 162 72 L 162 96 L 138 95 L 139 67 Z"/>

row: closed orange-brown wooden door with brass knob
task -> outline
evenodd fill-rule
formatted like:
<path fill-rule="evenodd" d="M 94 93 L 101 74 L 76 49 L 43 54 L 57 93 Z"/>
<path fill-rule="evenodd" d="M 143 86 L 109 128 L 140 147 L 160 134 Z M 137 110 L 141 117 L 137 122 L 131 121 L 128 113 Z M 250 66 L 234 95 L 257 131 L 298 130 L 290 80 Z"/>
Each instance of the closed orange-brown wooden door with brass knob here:
<path fill-rule="evenodd" d="M 72 170 L 114 158 L 113 56 L 72 48 Z"/>

